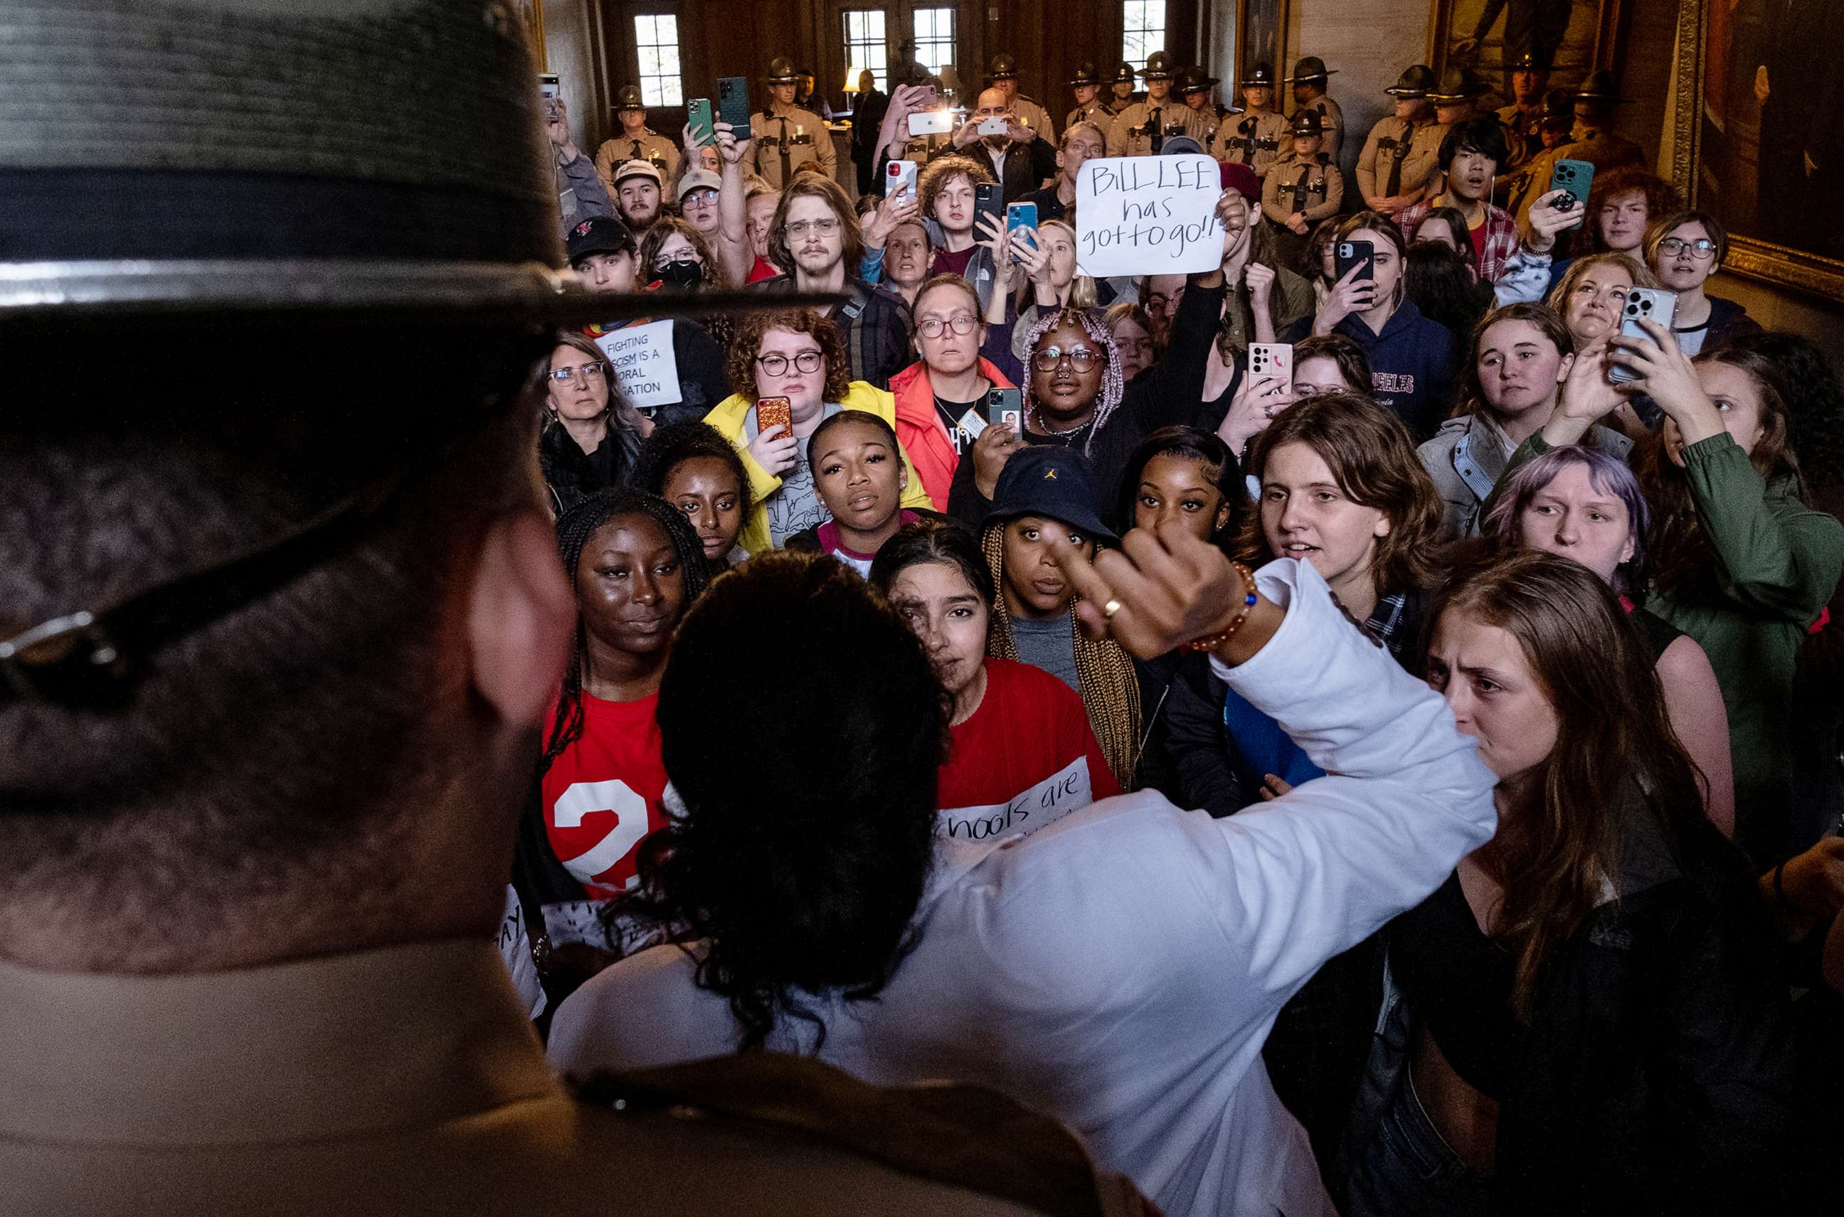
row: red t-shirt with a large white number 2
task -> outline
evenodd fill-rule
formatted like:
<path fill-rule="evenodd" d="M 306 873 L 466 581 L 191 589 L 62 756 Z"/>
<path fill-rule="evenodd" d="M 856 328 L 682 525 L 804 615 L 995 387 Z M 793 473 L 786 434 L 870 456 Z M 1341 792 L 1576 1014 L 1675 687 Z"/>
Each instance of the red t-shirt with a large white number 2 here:
<path fill-rule="evenodd" d="M 660 695 L 603 701 L 583 693 L 583 734 L 544 773 L 544 833 L 596 900 L 634 880 L 634 846 L 666 824 Z M 557 712 L 544 723 L 551 738 Z"/>

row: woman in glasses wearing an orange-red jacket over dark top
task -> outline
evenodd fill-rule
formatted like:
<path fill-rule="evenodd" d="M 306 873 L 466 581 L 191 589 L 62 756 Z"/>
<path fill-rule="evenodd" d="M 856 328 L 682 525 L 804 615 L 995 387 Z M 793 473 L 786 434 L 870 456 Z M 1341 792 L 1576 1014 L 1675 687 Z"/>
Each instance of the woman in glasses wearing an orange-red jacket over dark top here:
<path fill-rule="evenodd" d="M 961 457 L 987 422 L 987 393 L 1012 382 L 981 354 L 987 326 L 979 297 L 959 275 L 935 275 L 916 291 L 915 345 L 920 360 L 891 376 L 896 437 L 915 463 L 935 511 L 948 509 L 948 490 Z"/>

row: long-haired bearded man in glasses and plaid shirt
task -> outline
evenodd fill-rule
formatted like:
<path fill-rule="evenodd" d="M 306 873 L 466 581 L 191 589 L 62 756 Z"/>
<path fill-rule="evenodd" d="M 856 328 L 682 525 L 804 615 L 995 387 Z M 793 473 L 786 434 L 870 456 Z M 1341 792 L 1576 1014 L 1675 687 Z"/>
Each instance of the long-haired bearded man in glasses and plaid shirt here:
<path fill-rule="evenodd" d="M 857 216 L 839 183 L 821 173 L 797 173 L 769 225 L 769 262 L 782 273 L 749 289 L 773 295 L 843 293 L 845 304 L 821 312 L 845 334 L 852 380 L 889 389 L 891 376 L 911 361 L 909 306 L 857 277 L 863 256 Z"/>

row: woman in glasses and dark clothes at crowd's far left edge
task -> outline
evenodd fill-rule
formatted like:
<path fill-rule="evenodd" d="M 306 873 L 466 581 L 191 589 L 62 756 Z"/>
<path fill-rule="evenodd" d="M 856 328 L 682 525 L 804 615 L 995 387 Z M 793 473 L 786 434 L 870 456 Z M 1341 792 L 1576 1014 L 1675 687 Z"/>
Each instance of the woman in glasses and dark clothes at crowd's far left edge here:
<path fill-rule="evenodd" d="M 538 468 L 551 511 L 561 514 L 596 490 L 627 485 L 653 420 L 621 396 L 601 347 L 583 334 L 559 334 L 557 347 L 538 365 L 538 380 L 544 385 Z"/>

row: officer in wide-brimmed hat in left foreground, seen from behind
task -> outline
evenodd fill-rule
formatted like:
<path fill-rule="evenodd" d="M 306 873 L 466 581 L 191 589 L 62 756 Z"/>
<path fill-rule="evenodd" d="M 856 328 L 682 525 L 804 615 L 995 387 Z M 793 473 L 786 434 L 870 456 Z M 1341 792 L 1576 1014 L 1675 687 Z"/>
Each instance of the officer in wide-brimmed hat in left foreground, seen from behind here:
<path fill-rule="evenodd" d="M 577 618 L 522 384 L 559 326 L 656 301 L 544 266 L 557 214 L 516 24 L 422 4 L 354 39 L 325 0 L 234 11 L 7 28 L 28 63 L 129 55 L 192 92 L 66 89 L 0 149 L 28 186 L 7 219 L 46 258 L 7 267 L 0 334 L 53 361 L 15 369 L 0 411 L 0 1210 L 1027 1217 L 1097 1211 L 1099 1184 L 1101 1213 L 1145 1211 L 985 1090 L 918 1097 L 773 1053 L 575 1093 L 553 1075 L 494 948 Z M 408 37 L 467 70 L 406 94 Z M 236 138 L 275 105 L 247 83 L 278 44 L 297 129 L 339 133 L 312 199 Z M 33 157 L 101 125 L 87 168 L 133 173 L 159 223 Z M 214 184 L 269 190 L 277 223 L 234 238 L 194 205 Z M 494 223 L 406 240 L 372 205 L 406 186 L 431 218 Z M 280 221 L 328 207 L 343 223 L 312 240 Z M 278 312 L 313 354 L 286 374 L 260 341 Z M 53 369 L 100 343 L 136 402 L 63 409 Z"/>

